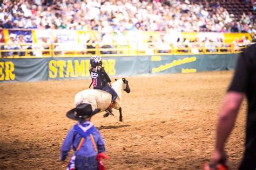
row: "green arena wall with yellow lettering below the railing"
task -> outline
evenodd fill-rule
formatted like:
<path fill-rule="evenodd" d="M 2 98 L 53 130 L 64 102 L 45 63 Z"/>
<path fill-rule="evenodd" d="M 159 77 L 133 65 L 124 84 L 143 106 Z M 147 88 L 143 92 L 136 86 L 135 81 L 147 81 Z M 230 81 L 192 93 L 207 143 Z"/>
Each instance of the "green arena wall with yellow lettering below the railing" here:
<path fill-rule="evenodd" d="M 239 54 L 104 57 L 110 76 L 195 73 L 234 69 Z M 0 82 L 72 80 L 90 77 L 90 58 L 0 59 Z"/>

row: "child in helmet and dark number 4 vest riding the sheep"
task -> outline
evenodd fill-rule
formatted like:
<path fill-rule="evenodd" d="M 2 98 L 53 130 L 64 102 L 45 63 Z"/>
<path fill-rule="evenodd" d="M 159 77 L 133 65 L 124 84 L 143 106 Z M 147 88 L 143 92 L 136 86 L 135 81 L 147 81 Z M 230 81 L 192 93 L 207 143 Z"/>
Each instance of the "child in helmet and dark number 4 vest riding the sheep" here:
<path fill-rule="evenodd" d="M 107 91 L 112 95 L 112 100 L 106 112 L 110 115 L 112 114 L 112 108 L 114 106 L 114 101 L 117 99 L 116 91 L 111 87 L 111 80 L 109 75 L 105 72 L 104 67 L 102 67 L 102 58 L 99 56 L 92 56 L 90 59 L 91 67 L 89 71 L 91 73 L 93 89 L 100 89 Z"/>

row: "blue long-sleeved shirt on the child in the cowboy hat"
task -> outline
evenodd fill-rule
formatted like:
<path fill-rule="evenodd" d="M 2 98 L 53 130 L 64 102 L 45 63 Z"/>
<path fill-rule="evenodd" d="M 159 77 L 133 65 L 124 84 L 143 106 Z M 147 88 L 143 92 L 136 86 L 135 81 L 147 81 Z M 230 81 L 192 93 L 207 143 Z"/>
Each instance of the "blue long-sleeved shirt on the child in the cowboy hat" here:
<path fill-rule="evenodd" d="M 83 127 L 86 127 L 90 125 L 90 122 L 89 121 L 80 122 L 80 124 Z M 105 152 L 104 141 L 98 129 L 94 128 L 91 134 L 93 136 L 93 139 L 95 140 L 98 153 Z M 70 129 L 69 133 L 67 134 L 63 142 L 63 145 L 61 147 L 62 155 L 68 155 L 71 146 L 73 147 L 73 150 L 76 151 L 81 139 L 82 139 L 82 136 L 78 133 L 77 130 L 75 130 L 75 126 L 73 126 L 73 128 Z M 98 153 L 96 153 L 89 136 L 85 138 L 84 143 L 82 144 L 82 147 L 77 152 L 77 154 L 83 155 L 84 157 L 96 156 Z"/>

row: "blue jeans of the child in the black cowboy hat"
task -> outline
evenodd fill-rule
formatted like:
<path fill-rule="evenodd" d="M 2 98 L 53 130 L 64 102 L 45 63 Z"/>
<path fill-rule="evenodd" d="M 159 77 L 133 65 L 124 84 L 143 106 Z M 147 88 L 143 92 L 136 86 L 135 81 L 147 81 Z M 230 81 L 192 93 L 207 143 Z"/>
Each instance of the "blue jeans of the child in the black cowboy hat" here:
<path fill-rule="evenodd" d="M 76 154 L 75 166 L 78 170 L 98 170 L 98 161 L 96 156 L 84 157 Z"/>

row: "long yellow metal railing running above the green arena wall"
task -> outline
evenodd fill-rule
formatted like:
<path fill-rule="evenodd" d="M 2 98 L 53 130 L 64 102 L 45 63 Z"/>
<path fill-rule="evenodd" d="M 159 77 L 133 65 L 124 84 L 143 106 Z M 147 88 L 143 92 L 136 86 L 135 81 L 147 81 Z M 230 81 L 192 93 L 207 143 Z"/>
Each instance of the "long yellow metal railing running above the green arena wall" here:
<path fill-rule="evenodd" d="M 0 43 L 0 58 L 42 58 L 81 56 L 134 56 L 239 53 L 250 44 L 190 42 L 167 44 L 163 42 L 126 44 L 6 44 Z"/>

